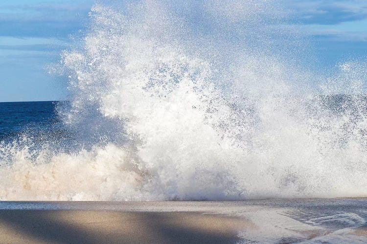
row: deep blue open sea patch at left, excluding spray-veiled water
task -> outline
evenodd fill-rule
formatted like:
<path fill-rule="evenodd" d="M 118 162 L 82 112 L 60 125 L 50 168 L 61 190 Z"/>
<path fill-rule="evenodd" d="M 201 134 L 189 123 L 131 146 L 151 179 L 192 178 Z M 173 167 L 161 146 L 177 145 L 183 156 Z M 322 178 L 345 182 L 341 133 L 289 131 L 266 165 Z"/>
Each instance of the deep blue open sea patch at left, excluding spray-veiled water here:
<path fill-rule="evenodd" d="M 58 104 L 51 101 L 0 102 L 0 141 L 10 142 L 22 135 L 38 140 L 62 137 L 65 128 L 56 112 Z"/>

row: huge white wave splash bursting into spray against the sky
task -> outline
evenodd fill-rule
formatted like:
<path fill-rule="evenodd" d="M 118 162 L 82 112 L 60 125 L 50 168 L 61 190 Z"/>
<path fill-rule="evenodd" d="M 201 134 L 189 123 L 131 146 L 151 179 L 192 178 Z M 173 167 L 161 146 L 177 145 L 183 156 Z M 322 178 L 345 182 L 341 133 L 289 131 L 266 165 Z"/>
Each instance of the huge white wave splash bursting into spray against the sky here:
<path fill-rule="evenodd" d="M 1 199 L 366 196 L 366 64 L 302 66 L 307 45 L 274 4 L 94 5 L 59 67 L 71 94 L 60 114 L 93 146 L 1 145 Z M 318 92 L 348 104 L 332 111 Z"/>

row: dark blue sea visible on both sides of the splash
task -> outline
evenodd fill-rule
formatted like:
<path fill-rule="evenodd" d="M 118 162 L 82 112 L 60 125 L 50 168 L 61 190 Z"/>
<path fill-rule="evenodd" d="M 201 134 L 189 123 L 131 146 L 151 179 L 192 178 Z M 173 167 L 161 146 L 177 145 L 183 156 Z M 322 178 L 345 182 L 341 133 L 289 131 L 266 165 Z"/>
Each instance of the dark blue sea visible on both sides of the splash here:
<path fill-rule="evenodd" d="M 326 109 L 325 111 L 330 111 L 335 116 L 344 114 L 346 109 L 352 113 L 357 109 L 350 96 L 320 96 L 317 100 Z M 359 100 L 367 102 L 366 97 Z M 88 126 L 65 124 L 59 117 L 57 109 L 69 105 L 69 102 L 59 101 L 0 102 L 0 142 L 20 141 L 24 136 L 34 145 L 47 142 L 55 148 L 70 149 L 88 147 L 100 142 L 102 138 L 116 141 L 114 136 L 120 125 L 115 124 L 115 121 L 105 119 L 102 122 L 94 122 L 89 118 Z"/>

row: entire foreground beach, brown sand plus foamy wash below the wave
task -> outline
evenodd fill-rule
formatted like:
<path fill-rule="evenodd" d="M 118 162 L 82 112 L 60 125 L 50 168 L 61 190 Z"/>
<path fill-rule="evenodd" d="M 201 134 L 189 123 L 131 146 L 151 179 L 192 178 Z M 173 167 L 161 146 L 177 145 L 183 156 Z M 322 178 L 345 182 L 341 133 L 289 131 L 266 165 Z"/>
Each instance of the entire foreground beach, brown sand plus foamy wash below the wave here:
<path fill-rule="evenodd" d="M 0 202 L 0 240 L 1 243 L 360 243 L 367 240 L 365 203 L 365 199 Z"/>

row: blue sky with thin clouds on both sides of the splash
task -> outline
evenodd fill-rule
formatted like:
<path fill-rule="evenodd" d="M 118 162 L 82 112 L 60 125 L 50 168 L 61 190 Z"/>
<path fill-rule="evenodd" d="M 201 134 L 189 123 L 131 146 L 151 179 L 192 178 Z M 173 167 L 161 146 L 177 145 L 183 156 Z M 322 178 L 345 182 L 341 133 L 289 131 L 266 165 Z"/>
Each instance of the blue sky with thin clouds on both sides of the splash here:
<path fill-rule="evenodd" d="M 288 25 L 313 40 L 321 66 L 367 57 L 366 0 L 284 0 Z M 67 98 L 66 81 L 47 65 L 88 24 L 95 0 L 0 1 L 0 102 Z"/>

